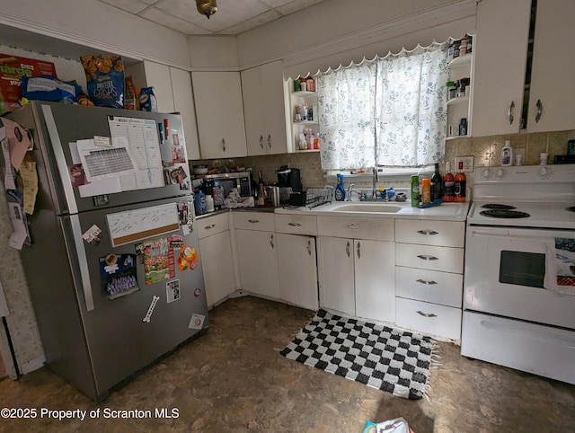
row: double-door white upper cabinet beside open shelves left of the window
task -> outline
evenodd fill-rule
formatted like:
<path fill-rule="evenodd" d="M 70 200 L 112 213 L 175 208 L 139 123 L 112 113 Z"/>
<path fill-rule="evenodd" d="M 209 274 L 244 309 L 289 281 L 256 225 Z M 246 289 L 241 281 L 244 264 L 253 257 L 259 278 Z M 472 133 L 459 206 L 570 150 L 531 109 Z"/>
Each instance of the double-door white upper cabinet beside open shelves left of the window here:
<path fill-rule="evenodd" d="M 287 154 L 283 63 L 242 71 L 248 155 Z"/>

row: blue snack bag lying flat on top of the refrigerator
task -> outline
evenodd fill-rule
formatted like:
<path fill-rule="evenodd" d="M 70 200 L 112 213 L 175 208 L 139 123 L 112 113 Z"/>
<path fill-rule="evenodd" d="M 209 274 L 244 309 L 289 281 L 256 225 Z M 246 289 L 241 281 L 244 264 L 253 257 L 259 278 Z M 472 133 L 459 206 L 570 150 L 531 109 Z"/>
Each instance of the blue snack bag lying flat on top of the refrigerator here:
<path fill-rule="evenodd" d="M 22 98 L 37 101 L 74 103 L 82 88 L 75 81 L 58 80 L 55 76 L 22 76 Z"/>

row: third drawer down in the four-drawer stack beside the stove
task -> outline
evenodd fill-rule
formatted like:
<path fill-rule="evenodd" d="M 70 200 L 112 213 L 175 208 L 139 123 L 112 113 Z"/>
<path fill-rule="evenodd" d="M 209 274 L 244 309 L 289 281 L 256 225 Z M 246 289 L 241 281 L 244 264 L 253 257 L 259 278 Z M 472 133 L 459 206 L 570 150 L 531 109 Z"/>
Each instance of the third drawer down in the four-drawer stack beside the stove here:
<path fill-rule="evenodd" d="M 464 276 L 437 270 L 395 267 L 395 295 L 461 308 Z"/>

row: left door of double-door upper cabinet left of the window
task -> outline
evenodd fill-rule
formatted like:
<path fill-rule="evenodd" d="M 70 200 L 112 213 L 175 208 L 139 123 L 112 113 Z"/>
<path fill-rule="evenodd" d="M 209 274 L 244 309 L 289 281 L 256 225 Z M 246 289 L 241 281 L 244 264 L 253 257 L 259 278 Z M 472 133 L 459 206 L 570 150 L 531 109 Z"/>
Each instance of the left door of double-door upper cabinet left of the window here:
<path fill-rule="evenodd" d="M 266 155 L 261 67 L 242 71 L 243 114 L 248 155 Z"/>

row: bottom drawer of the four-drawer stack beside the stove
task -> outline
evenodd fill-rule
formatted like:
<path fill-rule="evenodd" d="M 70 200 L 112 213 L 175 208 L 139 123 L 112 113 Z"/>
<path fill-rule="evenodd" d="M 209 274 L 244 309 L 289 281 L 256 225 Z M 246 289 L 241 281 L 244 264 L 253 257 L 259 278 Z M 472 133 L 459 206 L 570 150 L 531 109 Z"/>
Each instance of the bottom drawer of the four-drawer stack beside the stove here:
<path fill-rule="evenodd" d="M 446 339 L 461 339 L 461 309 L 427 302 L 395 298 L 398 326 L 412 331 L 437 335 Z"/>

